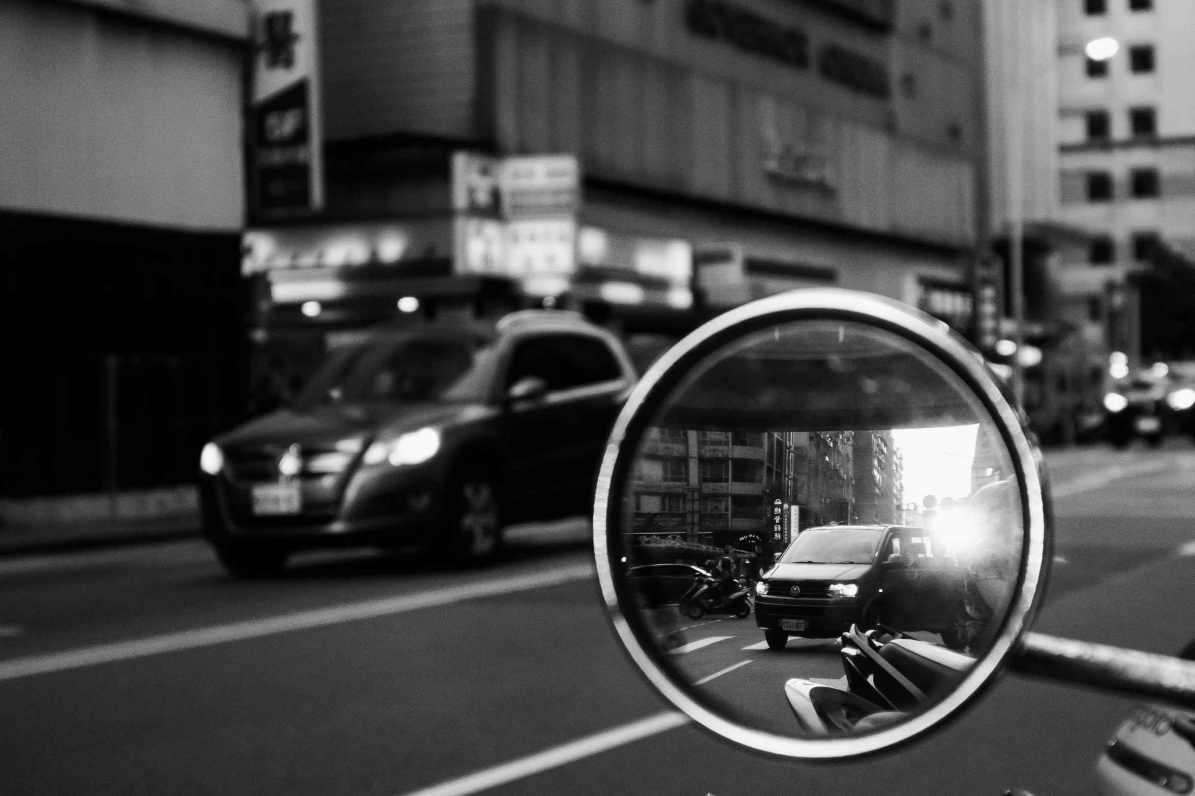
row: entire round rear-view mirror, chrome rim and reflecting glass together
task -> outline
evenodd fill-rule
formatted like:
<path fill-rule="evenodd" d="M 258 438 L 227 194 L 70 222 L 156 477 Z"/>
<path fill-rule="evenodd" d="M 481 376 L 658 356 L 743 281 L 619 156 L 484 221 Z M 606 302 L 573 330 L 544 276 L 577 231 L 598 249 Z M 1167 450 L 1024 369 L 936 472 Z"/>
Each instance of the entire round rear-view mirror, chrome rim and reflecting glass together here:
<path fill-rule="evenodd" d="M 881 297 L 801 290 L 690 334 L 602 461 L 602 596 L 650 683 L 713 733 L 831 759 L 956 715 L 1044 582 L 1038 457 L 982 358 Z"/>

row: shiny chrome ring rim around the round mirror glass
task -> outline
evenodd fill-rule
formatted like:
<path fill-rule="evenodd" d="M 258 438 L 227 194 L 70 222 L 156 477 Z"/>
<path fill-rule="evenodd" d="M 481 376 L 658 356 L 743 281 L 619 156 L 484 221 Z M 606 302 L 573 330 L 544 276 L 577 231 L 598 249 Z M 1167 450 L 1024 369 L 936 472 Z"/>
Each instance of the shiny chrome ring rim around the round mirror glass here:
<path fill-rule="evenodd" d="M 1017 588 L 988 653 L 954 692 L 924 712 L 899 724 L 848 738 L 789 738 L 746 727 L 715 712 L 674 683 L 656 660 L 660 652 L 641 641 L 632 622 L 619 606 L 612 569 L 614 554 L 608 537 L 609 512 L 618 507 L 620 500 L 621 486 L 615 482 L 614 475 L 624 469 L 625 463 L 620 461 L 623 442 L 636 421 L 643 425 L 644 421 L 639 420 L 641 409 L 646 407 L 654 412 L 656 405 L 675 385 L 680 376 L 672 372 L 673 368 L 715 350 L 739 327 L 754 329 L 771 322 L 809 319 L 853 320 L 872 327 L 885 327 L 934 353 L 974 388 L 1009 445 L 1021 487 L 1025 522 Z M 1047 551 L 1052 520 L 1044 501 L 1041 461 L 1025 436 L 1021 415 L 1004 397 L 982 359 L 966 343 L 945 332 L 946 327 L 940 321 L 882 296 L 836 288 L 793 290 L 744 304 L 709 321 L 666 352 L 631 393 L 607 440 L 598 474 L 593 514 L 598 580 L 614 630 L 639 671 L 669 702 L 701 727 L 742 746 L 782 758 L 828 760 L 874 754 L 906 743 L 957 716 L 962 708 L 994 681 L 1016 655 L 1018 642 L 1028 631 L 1041 601 L 1049 566 Z M 614 549 L 619 544 L 615 542 Z"/>

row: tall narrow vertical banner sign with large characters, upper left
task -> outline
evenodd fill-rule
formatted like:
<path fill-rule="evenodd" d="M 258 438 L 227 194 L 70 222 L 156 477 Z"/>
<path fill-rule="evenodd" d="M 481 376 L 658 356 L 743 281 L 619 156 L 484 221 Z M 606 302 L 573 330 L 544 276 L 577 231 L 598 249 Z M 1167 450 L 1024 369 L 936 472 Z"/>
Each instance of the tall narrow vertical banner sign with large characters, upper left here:
<path fill-rule="evenodd" d="M 324 204 L 315 0 L 251 0 L 250 204 L 266 215 Z"/>

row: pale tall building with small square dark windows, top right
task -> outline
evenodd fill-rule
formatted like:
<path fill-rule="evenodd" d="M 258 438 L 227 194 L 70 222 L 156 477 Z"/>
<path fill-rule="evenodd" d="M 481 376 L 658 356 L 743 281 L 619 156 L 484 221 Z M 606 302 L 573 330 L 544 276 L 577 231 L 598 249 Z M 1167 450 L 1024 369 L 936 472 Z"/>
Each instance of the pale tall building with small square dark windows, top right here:
<path fill-rule="evenodd" d="M 1195 4 L 1058 0 L 1058 23 L 1062 218 L 1096 233 L 1084 277 L 1110 311 L 1127 310 L 1110 333 L 1133 356 L 1126 274 L 1158 240 L 1195 258 Z M 1105 38 L 1115 45 L 1092 54 L 1110 57 L 1090 57 Z"/>

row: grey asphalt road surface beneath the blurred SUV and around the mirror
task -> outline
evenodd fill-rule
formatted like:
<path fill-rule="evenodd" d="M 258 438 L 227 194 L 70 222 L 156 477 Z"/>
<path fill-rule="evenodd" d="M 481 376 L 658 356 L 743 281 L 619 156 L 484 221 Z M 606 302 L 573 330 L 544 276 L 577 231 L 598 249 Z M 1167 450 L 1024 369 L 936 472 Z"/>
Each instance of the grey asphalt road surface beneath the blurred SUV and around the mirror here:
<path fill-rule="evenodd" d="M 1195 637 L 1195 450 L 1048 461 L 1056 559 L 1035 629 L 1177 652 Z M 736 627 L 691 665 L 730 693 L 768 650 L 743 649 L 762 640 L 749 621 L 719 625 Z M 240 582 L 198 542 L 0 560 L 5 795 L 1089 794 L 1132 705 L 1010 675 L 895 754 L 755 757 L 681 726 L 636 674 L 576 522 L 517 529 L 484 572 L 341 554 Z"/>

